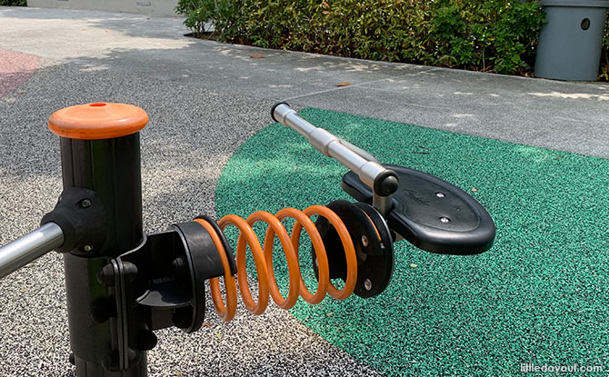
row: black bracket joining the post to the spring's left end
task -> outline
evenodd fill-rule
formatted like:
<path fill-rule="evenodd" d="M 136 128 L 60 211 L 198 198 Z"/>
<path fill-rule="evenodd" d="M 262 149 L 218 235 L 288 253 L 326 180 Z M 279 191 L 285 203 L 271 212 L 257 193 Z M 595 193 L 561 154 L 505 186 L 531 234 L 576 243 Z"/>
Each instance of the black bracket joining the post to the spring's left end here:
<path fill-rule="evenodd" d="M 220 237 L 231 273 L 235 258 L 224 233 L 206 216 Z M 148 313 L 152 330 L 176 326 L 195 332 L 205 319 L 205 280 L 223 276 L 224 265 L 210 233 L 196 222 L 176 223 L 162 233 L 150 234 L 135 251 L 121 255 L 121 263 L 137 266 L 132 299 Z"/>

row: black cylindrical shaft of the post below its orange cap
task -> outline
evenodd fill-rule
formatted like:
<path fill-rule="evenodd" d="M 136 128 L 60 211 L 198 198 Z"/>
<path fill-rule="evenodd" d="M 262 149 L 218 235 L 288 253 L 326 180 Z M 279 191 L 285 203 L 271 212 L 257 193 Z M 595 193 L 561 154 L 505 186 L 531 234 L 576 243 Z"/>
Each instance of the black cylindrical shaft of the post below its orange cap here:
<path fill-rule="evenodd" d="M 68 323 L 76 375 L 145 376 L 145 352 L 127 371 L 106 370 L 117 347 L 113 339 L 116 319 L 98 323 L 95 320 L 99 319 L 92 318 L 96 310 L 103 310 L 97 308 L 113 301 L 106 287 L 97 281 L 107 257 L 116 257 L 142 242 L 139 134 L 106 140 L 62 138 L 61 154 L 64 187 L 94 190 L 104 202 L 107 215 L 108 233 L 102 250 L 92 250 L 95 256 L 65 253 Z"/>

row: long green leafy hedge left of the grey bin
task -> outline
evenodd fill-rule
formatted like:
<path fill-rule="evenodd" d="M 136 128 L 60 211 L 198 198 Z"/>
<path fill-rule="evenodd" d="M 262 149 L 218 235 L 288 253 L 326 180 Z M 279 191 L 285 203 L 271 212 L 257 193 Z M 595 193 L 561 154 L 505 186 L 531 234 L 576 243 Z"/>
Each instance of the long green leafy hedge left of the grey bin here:
<path fill-rule="evenodd" d="M 223 42 L 501 74 L 532 71 L 545 19 L 520 0 L 179 0 L 176 11 L 195 35 L 213 22 Z M 606 60 L 609 32 L 604 45 Z"/>

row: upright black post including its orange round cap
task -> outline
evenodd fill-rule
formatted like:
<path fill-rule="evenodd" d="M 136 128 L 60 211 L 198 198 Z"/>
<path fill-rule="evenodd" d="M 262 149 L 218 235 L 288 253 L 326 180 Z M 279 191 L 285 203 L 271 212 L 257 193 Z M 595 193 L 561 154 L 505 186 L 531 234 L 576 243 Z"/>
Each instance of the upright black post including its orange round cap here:
<path fill-rule="evenodd" d="M 114 104 L 107 104 L 107 109 L 102 109 L 105 105 L 75 106 L 84 109 L 85 113 L 61 114 L 49 120 L 52 131 L 62 136 L 64 191 L 72 187 L 92 190 L 95 200 L 101 200 L 105 209 L 105 219 L 98 219 L 105 223 L 103 245 L 85 244 L 64 254 L 70 346 L 78 377 L 143 377 L 147 374 L 145 351 L 135 351 L 126 368 L 116 366 L 120 342 L 116 329 L 121 316 L 116 314 L 112 290 L 98 281 L 98 273 L 111 258 L 134 249 L 145 237 L 137 131 L 144 126 L 147 115 L 130 106 L 130 111 L 141 112 L 136 113 L 136 119 L 125 118 L 125 114 L 119 112 L 118 118 L 111 115 L 110 119 L 100 121 L 99 127 L 91 127 L 85 121 L 83 127 L 78 126 L 78 116 L 90 113 L 95 119 L 98 114 L 104 115 L 100 113 L 103 110 L 112 112 Z M 123 131 L 116 131 L 116 124 L 121 122 L 127 126 Z M 71 124 L 76 124 L 80 134 L 69 128 Z M 111 131 L 109 138 L 100 138 L 100 130 L 105 129 Z M 85 203 L 86 200 L 83 205 L 91 205 Z"/>

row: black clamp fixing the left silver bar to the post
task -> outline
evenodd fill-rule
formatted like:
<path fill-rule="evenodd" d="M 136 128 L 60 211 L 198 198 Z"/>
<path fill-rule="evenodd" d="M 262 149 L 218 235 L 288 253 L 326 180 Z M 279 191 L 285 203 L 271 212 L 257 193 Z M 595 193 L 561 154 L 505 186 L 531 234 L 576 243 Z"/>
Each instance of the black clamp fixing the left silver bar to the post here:
<path fill-rule="evenodd" d="M 106 238 L 106 215 L 102 199 L 93 190 L 65 187 L 50 213 L 40 222 L 56 223 L 64 233 L 61 253 L 95 254 L 103 249 Z"/>

